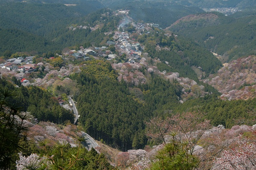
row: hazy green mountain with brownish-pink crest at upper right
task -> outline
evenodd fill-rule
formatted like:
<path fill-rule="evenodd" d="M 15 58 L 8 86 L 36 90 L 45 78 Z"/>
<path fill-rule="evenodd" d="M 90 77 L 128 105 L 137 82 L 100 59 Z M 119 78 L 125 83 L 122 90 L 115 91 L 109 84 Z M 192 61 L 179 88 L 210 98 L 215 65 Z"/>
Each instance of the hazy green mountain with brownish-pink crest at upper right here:
<path fill-rule="evenodd" d="M 219 13 L 189 15 L 177 20 L 169 30 L 196 40 L 222 55 L 222 62 L 228 62 L 256 52 L 255 14 L 242 14 L 236 14 L 237 17 Z"/>

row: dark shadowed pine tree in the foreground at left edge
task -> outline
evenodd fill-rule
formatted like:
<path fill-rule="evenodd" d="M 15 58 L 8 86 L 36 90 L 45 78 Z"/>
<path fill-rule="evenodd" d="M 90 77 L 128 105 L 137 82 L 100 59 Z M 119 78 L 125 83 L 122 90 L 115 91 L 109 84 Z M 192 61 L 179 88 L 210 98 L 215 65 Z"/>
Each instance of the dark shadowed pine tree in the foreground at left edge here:
<path fill-rule="evenodd" d="M 0 168 L 8 169 L 15 161 L 15 153 L 22 150 L 26 141 L 29 114 L 22 113 L 14 100 L 15 91 L 0 87 Z"/>

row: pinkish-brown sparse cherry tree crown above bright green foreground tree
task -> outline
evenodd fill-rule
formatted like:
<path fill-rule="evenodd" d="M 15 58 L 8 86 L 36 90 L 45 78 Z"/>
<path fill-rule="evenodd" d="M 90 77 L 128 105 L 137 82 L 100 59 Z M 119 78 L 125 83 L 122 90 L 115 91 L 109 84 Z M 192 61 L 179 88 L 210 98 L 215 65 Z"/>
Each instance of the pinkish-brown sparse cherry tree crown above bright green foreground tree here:
<path fill-rule="evenodd" d="M 166 143 L 169 135 L 176 133 L 177 140 L 188 141 L 190 147 L 194 147 L 196 142 L 204 134 L 204 131 L 212 127 L 209 120 L 202 120 L 204 113 L 188 112 L 168 117 L 165 120 L 157 117 L 147 122 L 147 136 L 154 141 Z"/>

